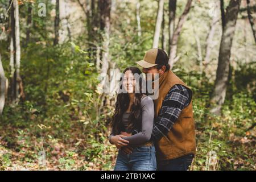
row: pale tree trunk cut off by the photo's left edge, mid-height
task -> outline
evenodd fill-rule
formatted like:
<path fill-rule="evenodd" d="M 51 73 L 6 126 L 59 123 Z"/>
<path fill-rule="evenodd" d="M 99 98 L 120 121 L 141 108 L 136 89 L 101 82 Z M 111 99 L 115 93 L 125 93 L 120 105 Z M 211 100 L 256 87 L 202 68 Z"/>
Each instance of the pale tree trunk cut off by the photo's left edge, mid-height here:
<path fill-rule="evenodd" d="M 5 93 L 6 93 L 6 77 L 5 71 L 3 70 L 3 64 L 0 53 L 0 114 L 3 112 L 5 106 Z"/>

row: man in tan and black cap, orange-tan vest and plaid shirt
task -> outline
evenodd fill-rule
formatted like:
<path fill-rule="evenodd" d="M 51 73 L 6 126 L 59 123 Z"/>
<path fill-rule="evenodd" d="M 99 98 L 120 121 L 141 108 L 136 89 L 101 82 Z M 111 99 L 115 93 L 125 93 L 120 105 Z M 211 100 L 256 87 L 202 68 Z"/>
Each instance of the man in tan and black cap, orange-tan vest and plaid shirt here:
<path fill-rule="evenodd" d="M 155 123 L 151 136 L 158 170 L 182 171 L 191 166 L 196 152 L 192 91 L 170 70 L 168 60 L 162 49 L 150 49 L 137 64 L 143 73 L 151 73 L 153 80 L 154 75 L 159 74 L 159 96 L 154 100 Z M 132 148 L 127 146 L 122 150 L 130 154 Z"/>

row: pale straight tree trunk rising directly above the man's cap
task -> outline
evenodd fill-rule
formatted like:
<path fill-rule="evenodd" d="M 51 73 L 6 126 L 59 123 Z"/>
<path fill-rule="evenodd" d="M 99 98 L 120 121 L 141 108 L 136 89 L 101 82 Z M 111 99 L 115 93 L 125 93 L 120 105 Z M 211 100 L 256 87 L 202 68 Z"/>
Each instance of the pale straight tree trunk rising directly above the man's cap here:
<path fill-rule="evenodd" d="M 153 48 L 158 48 L 159 44 L 159 38 L 161 33 L 161 24 L 163 21 L 163 7 L 164 6 L 164 0 L 158 1 L 158 15 L 156 17 L 156 23 L 155 23 L 155 34 L 154 34 L 154 40 L 153 40 Z"/>

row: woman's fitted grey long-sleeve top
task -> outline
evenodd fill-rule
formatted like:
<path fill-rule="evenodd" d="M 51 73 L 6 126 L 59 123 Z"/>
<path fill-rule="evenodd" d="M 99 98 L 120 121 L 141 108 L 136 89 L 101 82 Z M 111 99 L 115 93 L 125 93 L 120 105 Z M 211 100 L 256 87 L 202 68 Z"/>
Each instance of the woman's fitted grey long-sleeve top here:
<path fill-rule="evenodd" d="M 128 140 L 129 144 L 143 144 L 150 140 L 152 129 L 154 126 L 154 102 L 148 96 L 144 96 L 141 100 L 142 106 L 142 129 L 139 133 L 131 135 L 130 137 L 124 137 L 123 139 Z M 127 127 L 128 118 L 130 113 L 123 114 L 122 122 L 123 126 Z M 111 133 L 109 138 L 114 134 Z"/>

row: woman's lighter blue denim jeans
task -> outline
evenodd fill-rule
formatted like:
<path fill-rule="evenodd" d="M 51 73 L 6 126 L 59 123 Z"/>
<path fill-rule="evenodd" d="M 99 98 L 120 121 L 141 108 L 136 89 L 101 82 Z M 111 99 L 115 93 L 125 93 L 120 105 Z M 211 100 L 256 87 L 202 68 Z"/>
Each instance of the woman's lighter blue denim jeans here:
<path fill-rule="evenodd" d="M 155 171 L 156 158 L 154 146 L 133 148 L 131 154 L 119 150 L 114 171 Z"/>

